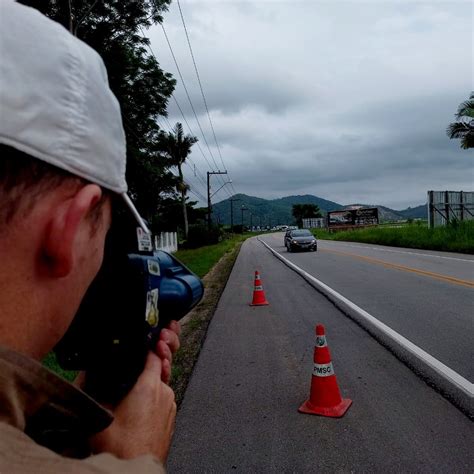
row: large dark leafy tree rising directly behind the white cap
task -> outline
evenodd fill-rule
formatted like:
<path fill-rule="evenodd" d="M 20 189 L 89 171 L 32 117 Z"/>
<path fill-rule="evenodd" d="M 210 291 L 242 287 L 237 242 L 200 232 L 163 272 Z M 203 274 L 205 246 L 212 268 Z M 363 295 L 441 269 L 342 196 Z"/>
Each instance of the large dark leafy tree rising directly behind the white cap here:
<path fill-rule="evenodd" d="M 145 217 L 156 214 L 174 194 L 170 163 L 160 152 L 166 116 L 176 81 L 149 52 L 143 32 L 160 23 L 171 0 L 22 0 L 95 49 L 104 60 L 109 83 L 122 109 L 127 137 L 129 191 Z"/>

